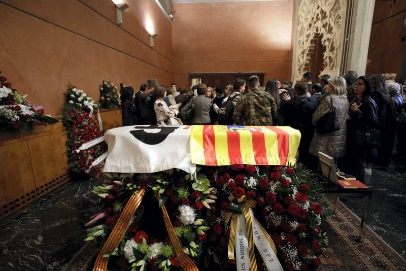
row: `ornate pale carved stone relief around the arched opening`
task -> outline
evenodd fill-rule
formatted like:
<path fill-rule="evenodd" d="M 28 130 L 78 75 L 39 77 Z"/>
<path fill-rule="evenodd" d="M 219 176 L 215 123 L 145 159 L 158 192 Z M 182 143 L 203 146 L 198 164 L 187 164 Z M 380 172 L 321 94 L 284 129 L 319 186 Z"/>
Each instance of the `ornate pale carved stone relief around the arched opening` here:
<path fill-rule="evenodd" d="M 316 36 L 324 53 L 321 74 L 337 75 L 340 69 L 347 0 L 302 0 L 299 6 L 294 80 L 308 71 Z"/>

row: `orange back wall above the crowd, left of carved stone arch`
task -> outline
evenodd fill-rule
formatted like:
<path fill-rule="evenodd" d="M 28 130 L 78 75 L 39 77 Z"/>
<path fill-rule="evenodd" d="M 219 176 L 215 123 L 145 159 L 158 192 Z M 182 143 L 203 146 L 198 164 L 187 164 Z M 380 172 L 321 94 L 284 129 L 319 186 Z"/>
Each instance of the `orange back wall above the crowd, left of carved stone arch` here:
<path fill-rule="evenodd" d="M 174 3 L 174 82 L 189 73 L 264 72 L 290 80 L 293 0 Z"/>

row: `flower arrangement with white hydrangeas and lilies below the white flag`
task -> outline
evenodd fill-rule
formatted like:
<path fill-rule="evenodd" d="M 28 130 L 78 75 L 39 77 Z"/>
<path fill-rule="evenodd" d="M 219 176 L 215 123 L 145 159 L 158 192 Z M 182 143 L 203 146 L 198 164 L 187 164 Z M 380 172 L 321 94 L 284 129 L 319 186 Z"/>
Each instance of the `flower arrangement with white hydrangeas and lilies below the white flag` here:
<path fill-rule="evenodd" d="M 131 267 L 132 270 L 140 267 L 152 270 L 169 270 L 179 267 L 180 263 L 175 254 L 173 244 L 169 238 L 158 232 L 145 232 L 140 228 L 151 228 L 151 220 L 143 221 L 142 213 L 154 213 L 142 211 L 143 208 L 155 205 L 157 208 L 165 206 L 173 221 L 173 230 L 181 244 L 182 250 L 195 262 L 199 261 L 198 255 L 202 253 L 203 242 L 207 238 L 210 229 L 206 223 L 211 210 L 215 208 L 216 189 L 210 187 L 206 175 L 198 174 L 197 179 L 192 181 L 190 174 L 182 171 L 170 170 L 159 174 L 105 174 L 110 180 L 103 186 L 94 187 L 93 192 L 100 196 L 103 212 L 92 216 L 86 226 L 98 224 L 87 229 L 86 241 L 94 240 L 98 236 L 110 234 L 120 217 L 125 202 L 129 197 L 148 186 L 154 191 L 154 196 L 159 198 L 154 201 L 151 196 L 146 196 L 144 202 L 152 200 L 150 204 L 139 207 L 136 216 L 130 221 L 124 239 L 118 249 L 106 256 L 114 256 L 116 263 L 121 268 Z M 141 210 L 141 211 L 140 211 Z M 138 213 L 138 212 L 141 213 Z M 157 218 L 154 218 L 156 221 Z M 152 228 L 157 228 L 154 226 Z M 160 240 L 156 237 L 160 236 Z M 155 238 L 149 238 L 154 236 Z M 137 269 L 138 270 L 138 269 Z"/>

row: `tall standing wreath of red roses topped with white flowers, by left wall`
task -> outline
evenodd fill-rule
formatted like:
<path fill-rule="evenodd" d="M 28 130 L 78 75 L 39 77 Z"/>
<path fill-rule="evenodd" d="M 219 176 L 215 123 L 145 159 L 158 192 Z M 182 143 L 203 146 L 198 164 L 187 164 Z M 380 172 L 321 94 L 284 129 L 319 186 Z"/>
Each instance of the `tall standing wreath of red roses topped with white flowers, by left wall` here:
<path fill-rule="evenodd" d="M 85 178 L 100 178 L 104 162 L 93 164 L 95 160 L 107 151 L 104 140 L 84 149 L 81 146 L 89 141 L 103 137 L 103 132 L 85 110 L 97 108 L 93 99 L 83 90 L 70 86 L 67 89 L 67 103 L 63 126 L 66 129 L 66 153 L 69 156 L 71 173 Z"/>

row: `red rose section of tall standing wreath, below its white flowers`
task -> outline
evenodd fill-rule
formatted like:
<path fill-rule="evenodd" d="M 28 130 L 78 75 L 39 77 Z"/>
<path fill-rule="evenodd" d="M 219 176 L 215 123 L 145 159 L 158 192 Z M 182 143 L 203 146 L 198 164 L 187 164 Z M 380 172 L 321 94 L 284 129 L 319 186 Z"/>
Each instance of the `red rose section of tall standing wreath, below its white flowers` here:
<path fill-rule="evenodd" d="M 69 167 L 71 172 L 84 174 L 90 168 L 92 162 L 101 154 L 107 151 L 105 142 L 95 145 L 86 150 L 76 150 L 84 143 L 103 136 L 94 120 L 84 110 L 73 109 L 63 119 L 63 126 L 66 128 L 68 140 L 66 141 L 66 153 L 69 156 Z M 90 178 L 100 178 L 104 162 L 92 166 L 87 173 Z"/>

